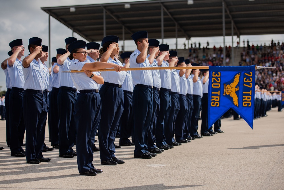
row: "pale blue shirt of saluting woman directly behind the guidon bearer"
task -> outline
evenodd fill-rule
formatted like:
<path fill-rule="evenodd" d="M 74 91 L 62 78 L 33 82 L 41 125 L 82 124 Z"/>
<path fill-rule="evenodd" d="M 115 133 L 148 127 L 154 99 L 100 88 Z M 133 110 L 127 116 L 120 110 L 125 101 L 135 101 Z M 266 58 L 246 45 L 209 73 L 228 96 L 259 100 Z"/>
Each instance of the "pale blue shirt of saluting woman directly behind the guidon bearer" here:
<path fill-rule="evenodd" d="M 114 58 L 114 60 L 112 58 L 109 58 L 107 60 L 107 63 L 114 63 L 119 66 L 122 66 L 122 63 L 117 58 Z M 126 77 L 126 72 L 125 71 L 120 71 L 120 72 L 103 71 L 101 72 L 101 76 L 103 77 L 105 82 L 114 83 L 114 84 L 122 84 Z"/>

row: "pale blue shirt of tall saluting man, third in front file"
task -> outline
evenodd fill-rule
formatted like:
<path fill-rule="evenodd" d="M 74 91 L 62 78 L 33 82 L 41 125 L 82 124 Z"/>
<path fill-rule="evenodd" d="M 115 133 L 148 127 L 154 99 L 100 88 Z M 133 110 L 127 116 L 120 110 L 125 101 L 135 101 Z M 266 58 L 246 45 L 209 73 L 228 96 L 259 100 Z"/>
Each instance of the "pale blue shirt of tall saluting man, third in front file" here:
<path fill-rule="evenodd" d="M 143 68 L 143 67 L 151 67 L 151 64 L 148 60 L 148 58 L 145 59 L 143 63 L 137 63 L 136 59 L 137 56 L 141 52 L 136 49 L 129 58 L 130 68 Z M 143 84 L 148 86 L 153 86 L 153 77 L 151 70 L 141 70 L 141 71 L 132 71 L 132 80 L 133 85 L 136 84 Z"/>

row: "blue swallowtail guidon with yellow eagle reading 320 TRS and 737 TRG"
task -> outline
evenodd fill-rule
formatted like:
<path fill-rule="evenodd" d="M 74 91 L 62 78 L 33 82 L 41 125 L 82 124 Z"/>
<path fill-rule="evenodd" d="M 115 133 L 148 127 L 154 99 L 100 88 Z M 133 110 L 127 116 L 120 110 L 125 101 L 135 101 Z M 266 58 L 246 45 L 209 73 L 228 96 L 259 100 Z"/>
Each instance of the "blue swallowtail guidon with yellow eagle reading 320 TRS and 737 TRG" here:
<path fill-rule="evenodd" d="M 233 108 L 252 128 L 255 65 L 209 66 L 208 126 Z"/>

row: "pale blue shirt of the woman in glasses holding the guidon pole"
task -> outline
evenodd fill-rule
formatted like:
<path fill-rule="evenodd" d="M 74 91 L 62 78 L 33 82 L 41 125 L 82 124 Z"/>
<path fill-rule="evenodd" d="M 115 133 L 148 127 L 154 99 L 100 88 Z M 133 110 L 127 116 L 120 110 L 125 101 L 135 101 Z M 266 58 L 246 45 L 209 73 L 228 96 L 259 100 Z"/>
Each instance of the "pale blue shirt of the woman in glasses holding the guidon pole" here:
<path fill-rule="evenodd" d="M 70 70 L 82 70 L 86 62 L 74 62 L 70 65 Z M 84 72 L 82 73 L 71 73 L 71 79 L 78 90 L 91 90 L 99 89 L 98 83 L 92 78 L 88 77 Z"/>

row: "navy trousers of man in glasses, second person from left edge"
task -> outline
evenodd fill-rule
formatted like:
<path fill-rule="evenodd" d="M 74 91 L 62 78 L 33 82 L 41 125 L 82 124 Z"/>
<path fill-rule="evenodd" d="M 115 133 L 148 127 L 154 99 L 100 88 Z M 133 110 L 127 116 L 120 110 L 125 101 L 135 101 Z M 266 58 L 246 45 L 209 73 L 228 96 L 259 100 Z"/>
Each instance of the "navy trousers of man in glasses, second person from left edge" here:
<path fill-rule="evenodd" d="M 23 95 L 24 91 L 13 88 L 9 95 L 10 150 L 12 154 L 24 150 L 21 147 L 26 130 L 23 116 Z"/>

